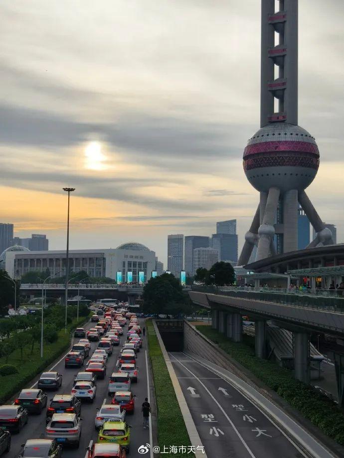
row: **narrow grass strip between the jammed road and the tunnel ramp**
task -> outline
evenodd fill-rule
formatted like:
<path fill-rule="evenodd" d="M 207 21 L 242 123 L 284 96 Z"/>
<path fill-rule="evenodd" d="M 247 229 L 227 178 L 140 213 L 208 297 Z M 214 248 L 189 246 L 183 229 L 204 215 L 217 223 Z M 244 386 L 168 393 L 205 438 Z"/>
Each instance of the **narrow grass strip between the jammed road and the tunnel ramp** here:
<path fill-rule="evenodd" d="M 157 400 L 158 444 L 160 450 L 164 450 L 164 446 L 168 450 L 170 446 L 189 447 L 191 446 L 190 439 L 152 320 L 147 320 L 146 329 Z M 194 454 L 190 453 L 187 456 L 194 457 Z M 182 458 L 185 457 L 185 454 L 173 453 L 173 457 Z"/>

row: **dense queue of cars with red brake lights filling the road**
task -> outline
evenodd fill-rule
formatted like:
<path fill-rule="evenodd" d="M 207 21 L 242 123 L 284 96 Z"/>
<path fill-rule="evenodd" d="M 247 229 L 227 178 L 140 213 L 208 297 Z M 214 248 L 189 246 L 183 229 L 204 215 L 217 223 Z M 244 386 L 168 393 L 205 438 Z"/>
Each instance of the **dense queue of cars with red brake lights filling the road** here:
<path fill-rule="evenodd" d="M 93 420 L 87 416 L 88 424 L 94 421 L 98 438 L 89 443 L 86 458 L 125 458 L 129 454 L 129 416 L 135 412 L 142 329 L 135 313 L 110 305 L 94 310 L 91 322 L 92 328 L 75 330 L 74 343 L 64 358 L 66 369 L 79 370 L 71 390 L 51 394 L 63 386 L 63 375 L 46 371 L 40 375 L 37 388 L 22 389 L 13 404 L 0 406 L 0 454 L 9 452 L 11 435 L 19 433 L 19 438 L 12 437 L 13 443 L 17 443 L 29 417 L 40 414 L 46 417 L 45 431 L 21 444 L 19 457 L 60 458 L 66 448 L 78 449 L 86 420 L 82 416 L 83 405 L 97 399 L 99 384 L 108 385 L 108 397 L 98 400 L 101 405 L 94 408 Z M 96 348 L 92 352 L 93 342 Z M 119 351 L 115 351 L 116 347 Z"/>

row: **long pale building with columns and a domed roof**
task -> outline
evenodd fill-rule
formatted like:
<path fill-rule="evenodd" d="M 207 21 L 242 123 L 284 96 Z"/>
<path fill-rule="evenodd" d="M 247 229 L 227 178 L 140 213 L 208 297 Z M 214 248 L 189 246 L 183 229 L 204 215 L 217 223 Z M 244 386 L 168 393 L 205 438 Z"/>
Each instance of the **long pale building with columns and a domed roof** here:
<path fill-rule="evenodd" d="M 12 278 L 20 278 L 28 271 L 47 269 L 51 275 L 62 276 L 66 273 L 66 251 L 8 251 L 5 269 Z M 70 278 L 81 270 L 91 277 L 114 280 L 116 273 L 122 272 L 123 283 L 128 272 L 132 272 L 132 282 L 138 283 L 139 272 L 143 271 L 147 281 L 152 276 L 152 270 L 156 270 L 155 252 L 137 242 L 124 243 L 116 249 L 69 250 Z"/>

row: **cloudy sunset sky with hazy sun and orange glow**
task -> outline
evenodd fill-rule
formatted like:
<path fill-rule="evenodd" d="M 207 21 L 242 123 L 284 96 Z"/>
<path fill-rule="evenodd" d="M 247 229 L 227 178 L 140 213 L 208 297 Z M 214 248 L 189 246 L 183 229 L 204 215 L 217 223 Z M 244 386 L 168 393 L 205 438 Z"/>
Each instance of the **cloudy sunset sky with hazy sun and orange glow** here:
<path fill-rule="evenodd" d="M 321 165 L 307 193 L 344 241 L 344 2 L 299 1 L 299 124 Z M 0 5 L 0 222 L 65 247 L 210 235 L 258 193 L 260 1 L 12 0 Z"/>

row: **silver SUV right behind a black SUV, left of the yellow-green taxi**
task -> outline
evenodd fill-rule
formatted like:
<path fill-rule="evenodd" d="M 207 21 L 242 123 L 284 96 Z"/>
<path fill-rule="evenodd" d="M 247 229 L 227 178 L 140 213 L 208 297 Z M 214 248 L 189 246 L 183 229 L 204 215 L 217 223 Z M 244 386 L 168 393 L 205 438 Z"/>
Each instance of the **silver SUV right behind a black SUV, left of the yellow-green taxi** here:
<path fill-rule="evenodd" d="M 46 439 L 56 439 L 63 445 L 79 448 L 82 419 L 76 414 L 54 414 L 47 418 Z"/>

